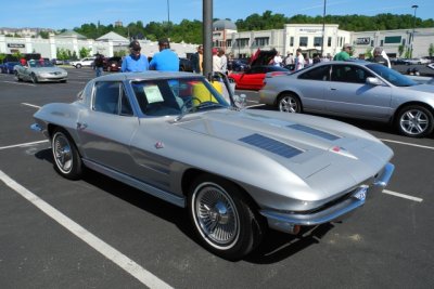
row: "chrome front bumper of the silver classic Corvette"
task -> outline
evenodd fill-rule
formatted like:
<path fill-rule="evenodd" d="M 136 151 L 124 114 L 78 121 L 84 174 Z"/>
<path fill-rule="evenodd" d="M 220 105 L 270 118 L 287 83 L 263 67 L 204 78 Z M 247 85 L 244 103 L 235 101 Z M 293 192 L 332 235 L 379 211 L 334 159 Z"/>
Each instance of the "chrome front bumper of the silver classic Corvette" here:
<path fill-rule="evenodd" d="M 263 214 L 268 220 L 268 225 L 270 228 L 293 233 L 296 225 L 301 226 L 312 226 L 331 221 L 342 219 L 345 214 L 354 211 L 355 209 L 361 207 L 368 195 L 374 195 L 376 192 L 382 192 L 383 188 L 388 184 L 392 174 L 395 170 L 395 166 L 387 163 L 381 174 L 376 176 L 371 184 L 361 185 L 352 192 L 352 195 L 345 200 L 337 202 L 324 210 L 320 210 L 315 213 L 282 213 L 278 211 L 263 210 Z"/>

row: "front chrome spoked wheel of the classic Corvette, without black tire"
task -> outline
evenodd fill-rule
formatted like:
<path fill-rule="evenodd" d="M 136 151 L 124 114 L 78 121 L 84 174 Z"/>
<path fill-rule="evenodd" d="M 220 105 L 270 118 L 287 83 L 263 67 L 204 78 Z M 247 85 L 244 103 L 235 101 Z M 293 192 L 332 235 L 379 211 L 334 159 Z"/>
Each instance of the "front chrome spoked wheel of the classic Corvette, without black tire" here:
<path fill-rule="evenodd" d="M 195 225 L 215 248 L 229 249 L 240 235 L 240 218 L 232 198 L 220 186 L 203 183 L 192 197 Z"/>

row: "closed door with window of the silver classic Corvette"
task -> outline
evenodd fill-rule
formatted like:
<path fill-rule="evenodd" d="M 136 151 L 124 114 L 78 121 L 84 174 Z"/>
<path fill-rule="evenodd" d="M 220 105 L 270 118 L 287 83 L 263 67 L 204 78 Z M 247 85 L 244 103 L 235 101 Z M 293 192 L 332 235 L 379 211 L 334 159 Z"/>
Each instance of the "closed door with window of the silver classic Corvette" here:
<path fill-rule="evenodd" d="M 139 127 L 119 81 L 98 81 L 90 109 L 79 115 L 77 133 L 86 159 L 129 174 L 135 166 L 130 140 Z"/>

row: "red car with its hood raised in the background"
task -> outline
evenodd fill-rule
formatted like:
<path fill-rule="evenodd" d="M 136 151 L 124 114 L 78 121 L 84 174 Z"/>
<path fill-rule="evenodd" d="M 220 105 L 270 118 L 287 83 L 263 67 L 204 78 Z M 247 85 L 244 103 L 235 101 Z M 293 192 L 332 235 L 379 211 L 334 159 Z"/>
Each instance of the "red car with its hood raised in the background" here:
<path fill-rule="evenodd" d="M 237 89 L 260 90 L 264 87 L 266 74 L 273 76 L 289 73 L 290 70 L 280 66 L 269 65 L 277 51 L 257 51 L 252 56 L 250 68 L 240 73 L 232 73 L 229 78 L 235 82 Z"/>

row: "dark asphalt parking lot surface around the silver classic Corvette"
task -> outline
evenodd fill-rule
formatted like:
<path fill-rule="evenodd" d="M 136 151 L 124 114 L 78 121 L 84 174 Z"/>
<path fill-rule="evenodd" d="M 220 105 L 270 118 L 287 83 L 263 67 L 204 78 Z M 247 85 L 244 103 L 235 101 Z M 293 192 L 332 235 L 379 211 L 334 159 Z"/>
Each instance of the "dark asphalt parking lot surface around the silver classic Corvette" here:
<path fill-rule="evenodd" d="M 228 262 L 195 241 L 183 210 L 95 172 L 73 182 L 53 170 L 29 126 L 38 107 L 73 102 L 94 76 L 67 70 L 67 83 L 0 75 L 0 288 L 434 288 L 434 135 L 343 119 L 395 152 L 387 189 L 342 223 L 270 232 Z"/>

